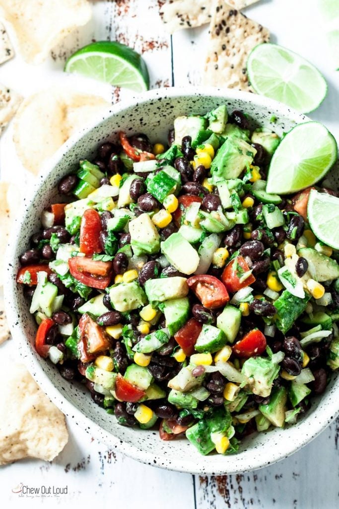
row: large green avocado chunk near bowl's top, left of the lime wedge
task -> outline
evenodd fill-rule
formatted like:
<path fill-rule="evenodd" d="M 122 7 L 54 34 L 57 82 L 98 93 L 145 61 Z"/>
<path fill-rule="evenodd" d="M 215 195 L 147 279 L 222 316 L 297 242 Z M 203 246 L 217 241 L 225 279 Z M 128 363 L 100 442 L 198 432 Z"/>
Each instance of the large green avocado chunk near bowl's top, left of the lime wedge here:
<path fill-rule="evenodd" d="M 252 164 L 256 153 L 256 149 L 245 140 L 228 137 L 212 161 L 211 174 L 224 179 L 235 179 L 246 166 Z"/>

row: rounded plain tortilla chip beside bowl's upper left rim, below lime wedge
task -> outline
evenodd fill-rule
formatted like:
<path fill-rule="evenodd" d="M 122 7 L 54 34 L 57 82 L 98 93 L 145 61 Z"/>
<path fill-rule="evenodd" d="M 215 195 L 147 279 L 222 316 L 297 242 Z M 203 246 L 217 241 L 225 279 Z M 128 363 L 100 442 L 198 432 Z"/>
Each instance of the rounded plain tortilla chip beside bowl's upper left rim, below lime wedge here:
<path fill-rule="evenodd" d="M 50 89 L 27 97 L 14 121 L 13 139 L 22 164 L 37 175 L 46 160 L 110 104 L 102 97 Z"/>

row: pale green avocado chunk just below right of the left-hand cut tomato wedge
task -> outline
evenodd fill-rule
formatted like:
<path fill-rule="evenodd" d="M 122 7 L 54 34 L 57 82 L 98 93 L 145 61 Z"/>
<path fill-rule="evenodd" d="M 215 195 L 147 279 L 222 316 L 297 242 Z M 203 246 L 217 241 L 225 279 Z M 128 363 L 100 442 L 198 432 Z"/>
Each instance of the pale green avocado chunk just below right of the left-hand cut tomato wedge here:
<path fill-rule="evenodd" d="M 109 296 L 114 309 L 122 313 L 137 309 L 147 302 L 145 292 L 137 281 L 113 285 L 109 289 Z"/>

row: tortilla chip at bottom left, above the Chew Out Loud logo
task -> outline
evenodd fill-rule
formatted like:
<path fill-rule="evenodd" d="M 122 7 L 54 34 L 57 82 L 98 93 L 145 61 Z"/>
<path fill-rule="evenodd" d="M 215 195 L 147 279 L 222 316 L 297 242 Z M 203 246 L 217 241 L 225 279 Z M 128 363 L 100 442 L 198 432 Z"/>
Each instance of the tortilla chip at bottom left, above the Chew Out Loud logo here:
<path fill-rule="evenodd" d="M 4 363 L 2 376 L 6 383 L 0 394 L 0 465 L 22 458 L 52 461 L 68 442 L 64 414 L 24 365 Z"/>

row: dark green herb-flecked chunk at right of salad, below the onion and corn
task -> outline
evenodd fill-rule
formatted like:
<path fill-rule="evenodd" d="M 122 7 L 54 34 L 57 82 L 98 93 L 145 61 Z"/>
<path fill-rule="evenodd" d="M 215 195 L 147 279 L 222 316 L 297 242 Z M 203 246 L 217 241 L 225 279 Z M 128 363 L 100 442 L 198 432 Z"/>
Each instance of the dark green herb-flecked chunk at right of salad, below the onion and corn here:
<path fill-rule="evenodd" d="M 304 312 L 311 295 L 305 293 L 305 297 L 295 297 L 288 290 L 284 290 L 281 296 L 273 303 L 276 309 L 276 328 L 284 334 L 292 327 L 296 319 Z"/>

